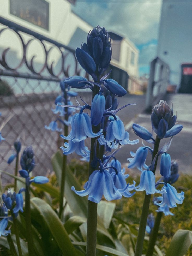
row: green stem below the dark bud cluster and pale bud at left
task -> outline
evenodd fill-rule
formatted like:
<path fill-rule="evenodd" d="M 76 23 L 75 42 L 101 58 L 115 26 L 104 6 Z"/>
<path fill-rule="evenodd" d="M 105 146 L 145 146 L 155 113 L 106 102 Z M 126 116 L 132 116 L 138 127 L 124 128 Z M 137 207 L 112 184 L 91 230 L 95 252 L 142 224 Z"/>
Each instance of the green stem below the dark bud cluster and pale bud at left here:
<path fill-rule="evenodd" d="M 31 227 L 31 208 L 30 208 L 30 188 L 26 184 L 25 190 L 25 223 L 26 223 L 26 239 L 29 256 L 35 256 L 33 247 L 33 236 Z"/>

